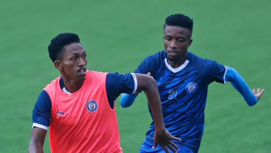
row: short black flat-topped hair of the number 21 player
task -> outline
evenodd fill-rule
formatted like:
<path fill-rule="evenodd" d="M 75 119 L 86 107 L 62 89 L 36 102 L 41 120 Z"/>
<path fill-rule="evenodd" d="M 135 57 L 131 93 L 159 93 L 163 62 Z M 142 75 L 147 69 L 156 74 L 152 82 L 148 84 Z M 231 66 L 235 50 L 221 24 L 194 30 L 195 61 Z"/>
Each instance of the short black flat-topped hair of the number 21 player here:
<path fill-rule="evenodd" d="M 178 26 L 178 27 L 186 28 L 192 32 L 193 19 L 183 14 L 172 14 L 166 18 L 164 28 L 166 26 Z"/>

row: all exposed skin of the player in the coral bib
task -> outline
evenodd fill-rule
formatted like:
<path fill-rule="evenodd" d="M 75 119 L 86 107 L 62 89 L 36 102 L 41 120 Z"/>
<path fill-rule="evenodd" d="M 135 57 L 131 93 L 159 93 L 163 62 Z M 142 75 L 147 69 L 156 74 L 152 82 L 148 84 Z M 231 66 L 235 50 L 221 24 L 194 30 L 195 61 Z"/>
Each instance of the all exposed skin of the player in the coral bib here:
<path fill-rule="evenodd" d="M 61 60 L 54 62 L 55 67 L 60 71 L 65 88 L 70 93 L 78 91 L 85 80 L 86 76 L 86 51 L 80 43 L 72 43 L 64 47 L 64 54 Z M 179 147 L 172 140 L 181 141 L 173 137 L 164 126 L 162 107 L 156 80 L 145 74 L 135 74 L 137 77 L 137 91 L 144 91 L 148 99 L 155 123 L 154 147 L 159 144 L 169 153 L 166 146 L 173 152 L 177 152 Z M 33 127 L 31 140 L 28 147 L 29 153 L 43 153 L 43 144 L 47 130 L 39 127 Z M 173 148 L 174 147 L 174 148 Z"/>

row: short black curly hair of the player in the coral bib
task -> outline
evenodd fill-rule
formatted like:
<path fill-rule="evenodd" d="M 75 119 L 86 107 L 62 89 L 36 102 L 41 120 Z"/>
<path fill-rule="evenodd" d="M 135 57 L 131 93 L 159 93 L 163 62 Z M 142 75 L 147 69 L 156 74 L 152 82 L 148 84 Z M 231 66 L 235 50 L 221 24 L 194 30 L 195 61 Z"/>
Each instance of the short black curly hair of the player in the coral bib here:
<path fill-rule="evenodd" d="M 75 33 L 60 33 L 51 40 L 48 52 L 53 63 L 56 60 L 62 60 L 64 47 L 72 43 L 80 43 L 79 36 Z"/>

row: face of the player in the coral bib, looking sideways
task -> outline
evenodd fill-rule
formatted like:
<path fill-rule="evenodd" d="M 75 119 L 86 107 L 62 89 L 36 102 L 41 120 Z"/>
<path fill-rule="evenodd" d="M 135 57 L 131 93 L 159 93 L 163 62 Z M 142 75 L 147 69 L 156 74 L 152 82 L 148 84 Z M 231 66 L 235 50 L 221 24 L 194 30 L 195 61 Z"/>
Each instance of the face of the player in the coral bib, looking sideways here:
<path fill-rule="evenodd" d="M 64 47 L 63 59 L 60 62 L 62 73 L 75 82 L 83 82 L 86 78 L 86 51 L 80 43 L 72 43 Z M 63 75 L 62 74 L 62 75 Z"/>

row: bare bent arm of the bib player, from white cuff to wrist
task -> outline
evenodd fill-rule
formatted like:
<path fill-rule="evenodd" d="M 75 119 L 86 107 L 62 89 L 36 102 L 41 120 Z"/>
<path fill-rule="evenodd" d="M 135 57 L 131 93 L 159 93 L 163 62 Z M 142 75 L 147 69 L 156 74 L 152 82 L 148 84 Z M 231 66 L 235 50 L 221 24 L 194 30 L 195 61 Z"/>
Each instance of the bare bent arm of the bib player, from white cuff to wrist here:
<path fill-rule="evenodd" d="M 156 80 L 145 74 L 135 73 L 137 78 L 137 92 L 144 91 L 150 105 L 151 112 L 153 113 L 153 120 L 155 130 L 162 132 L 165 130 L 161 100 L 159 96 L 158 86 Z"/>

